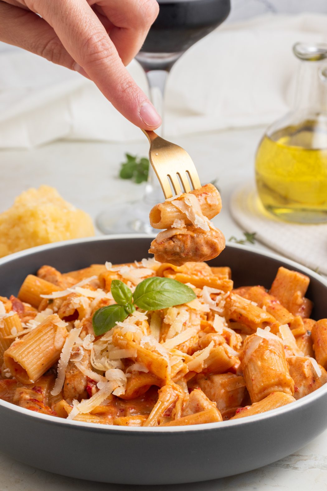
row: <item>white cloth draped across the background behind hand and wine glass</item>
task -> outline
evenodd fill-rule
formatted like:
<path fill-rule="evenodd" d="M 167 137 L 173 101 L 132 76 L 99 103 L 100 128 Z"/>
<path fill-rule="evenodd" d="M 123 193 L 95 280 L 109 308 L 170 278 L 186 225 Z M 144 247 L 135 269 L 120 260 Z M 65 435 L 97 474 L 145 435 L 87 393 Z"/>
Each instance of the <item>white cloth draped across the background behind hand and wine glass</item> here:
<path fill-rule="evenodd" d="M 268 15 L 223 25 L 183 55 L 166 91 L 167 136 L 269 124 L 292 104 L 297 41 L 326 41 L 327 15 Z M 128 70 L 147 90 L 136 61 Z M 79 74 L 22 50 L 0 51 L 0 148 L 57 138 L 142 139 Z"/>

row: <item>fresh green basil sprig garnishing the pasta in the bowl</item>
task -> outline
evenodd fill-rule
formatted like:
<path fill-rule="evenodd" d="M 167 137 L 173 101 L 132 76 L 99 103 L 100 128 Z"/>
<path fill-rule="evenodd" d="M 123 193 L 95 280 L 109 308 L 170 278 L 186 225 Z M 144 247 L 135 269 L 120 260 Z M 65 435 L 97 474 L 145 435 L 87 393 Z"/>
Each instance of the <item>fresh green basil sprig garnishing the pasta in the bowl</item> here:
<path fill-rule="evenodd" d="M 134 305 L 143 310 L 160 310 L 196 298 L 192 288 L 184 283 L 158 276 L 141 281 L 133 294 L 123 281 L 115 279 L 111 283 L 111 294 L 117 304 L 101 307 L 93 315 L 92 324 L 96 336 L 112 329 L 117 322 L 123 322 L 134 312 Z"/>

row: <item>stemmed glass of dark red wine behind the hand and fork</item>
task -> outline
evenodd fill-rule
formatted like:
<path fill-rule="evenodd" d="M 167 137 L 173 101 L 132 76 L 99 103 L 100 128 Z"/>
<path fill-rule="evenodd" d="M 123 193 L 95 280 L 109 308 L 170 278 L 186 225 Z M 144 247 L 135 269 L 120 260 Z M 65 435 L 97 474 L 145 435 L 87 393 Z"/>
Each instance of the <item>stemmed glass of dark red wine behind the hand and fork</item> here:
<path fill-rule="evenodd" d="M 162 116 L 165 85 L 172 66 L 188 48 L 224 22 L 230 11 L 230 0 L 158 0 L 158 3 L 158 17 L 136 59 L 146 73 L 151 102 Z M 156 130 L 160 136 L 162 127 Z M 105 234 L 153 233 L 149 212 L 163 200 L 150 165 L 143 198 L 112 204 L 97 217 L 97 226 Z"/>

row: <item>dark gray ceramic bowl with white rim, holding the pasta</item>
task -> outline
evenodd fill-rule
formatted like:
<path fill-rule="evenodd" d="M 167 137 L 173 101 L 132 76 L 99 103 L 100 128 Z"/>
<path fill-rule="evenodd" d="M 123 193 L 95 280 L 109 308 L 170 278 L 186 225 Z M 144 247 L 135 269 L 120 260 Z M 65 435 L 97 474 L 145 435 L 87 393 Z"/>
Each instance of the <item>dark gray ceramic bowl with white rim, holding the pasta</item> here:
<path fill-rule="evenodd" d="M 111 236 L 41 246 L 0 260 L 0 295 L 17 293 L 43 264 L 65 272 L 91 263 L 148 256 L 149 236 Z M 327 282 L 275 254 L 227 246 L 211 262 L 232 268 L 236 286 L 269 287 L 277 268 L 310 276 L 313 317 L 327 317 Z M 270 464 L 298 450 L 327 427 L 327 384 L 300 401 L 224 423 L 126 428 L 66 421 L 0 401 L 0 449 L 25 464 L 81 479 L 125 484 L 202 481 Z"/>

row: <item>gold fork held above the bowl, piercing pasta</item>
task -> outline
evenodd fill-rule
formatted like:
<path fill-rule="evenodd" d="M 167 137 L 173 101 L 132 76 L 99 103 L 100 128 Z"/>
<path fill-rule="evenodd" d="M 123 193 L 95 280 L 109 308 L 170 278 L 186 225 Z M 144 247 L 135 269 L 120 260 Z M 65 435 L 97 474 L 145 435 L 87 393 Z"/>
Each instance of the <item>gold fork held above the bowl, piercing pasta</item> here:
<path fill-rule="evenodd" d="M 150 142 L 149 159 L 166 199 L 173 197 L 170 182 L 175 194 L 181 192 L 178 178 L 184 192 L 191 191 L 187 176 L 190 178 L 193 189 L 201 187 L 197 169 L 191 157 L 183 148 L 164 140 L 154 131 L 142 131 Z"/>

